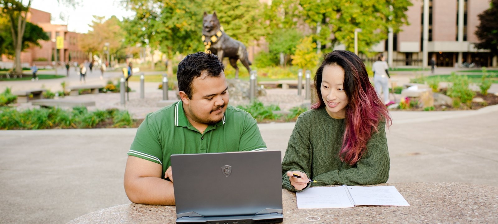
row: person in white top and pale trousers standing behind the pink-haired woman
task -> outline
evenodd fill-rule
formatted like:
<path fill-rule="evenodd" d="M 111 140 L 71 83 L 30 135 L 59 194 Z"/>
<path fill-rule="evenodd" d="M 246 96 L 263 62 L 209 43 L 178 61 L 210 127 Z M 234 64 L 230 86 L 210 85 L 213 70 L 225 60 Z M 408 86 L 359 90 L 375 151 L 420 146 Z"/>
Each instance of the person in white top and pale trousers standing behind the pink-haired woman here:
<path fill-rule="evenodd" d="M 373 70 L 373 85 L 375 86 L 375 91 L 377 91 L 378 96 L 384 102 L 384 105 L 389 104 L 389 66 L 385 62 L 385 57 L 383 55 L 378 56 L 377 61 L 372 65 Z M 380 95 L 380 92 L 383 93 Z"/>

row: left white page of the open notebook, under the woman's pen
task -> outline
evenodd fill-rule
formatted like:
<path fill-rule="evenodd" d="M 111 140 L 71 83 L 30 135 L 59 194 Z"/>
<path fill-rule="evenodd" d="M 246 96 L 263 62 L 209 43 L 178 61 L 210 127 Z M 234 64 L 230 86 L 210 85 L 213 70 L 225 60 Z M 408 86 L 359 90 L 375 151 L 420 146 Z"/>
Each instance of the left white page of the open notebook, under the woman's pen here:
<path fill-rule="evenodd" d="M 305 191 L 297 192 L 296 197 L 298 209 L 354 207 L 344 186 L 308 188 Z"/>

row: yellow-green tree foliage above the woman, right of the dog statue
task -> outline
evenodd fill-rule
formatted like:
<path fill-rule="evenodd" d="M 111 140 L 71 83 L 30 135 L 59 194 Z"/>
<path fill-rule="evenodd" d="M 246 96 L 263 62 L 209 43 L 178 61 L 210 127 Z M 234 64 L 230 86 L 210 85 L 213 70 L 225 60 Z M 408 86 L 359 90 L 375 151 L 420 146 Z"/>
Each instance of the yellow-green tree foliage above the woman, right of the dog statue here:
<path fill-rule="evenodd" d="M 399 32 L 407 23 L 409 0 L 273 0 L 265 8 L 269 27 L 307 30 L 318 51 L 342 43 L 354 49 L 354 30 L 363 29 L 358 40 L 359 52 L 387 38 L 388 29 Z"/>

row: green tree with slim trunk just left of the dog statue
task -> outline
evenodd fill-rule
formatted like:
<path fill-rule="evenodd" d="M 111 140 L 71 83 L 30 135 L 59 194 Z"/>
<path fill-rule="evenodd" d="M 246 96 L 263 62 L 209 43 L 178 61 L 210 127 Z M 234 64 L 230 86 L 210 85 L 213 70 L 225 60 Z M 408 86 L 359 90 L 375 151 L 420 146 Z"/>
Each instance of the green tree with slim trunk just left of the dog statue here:
<path fill-rule="evenodd" d="M 168 76 L 173 75 L 175 53 L 204 49 L 201 38 L 202 10 L 200 0 L 125 0 L 135 12 L 126 20 L 126 42 L 160 50 L 168 58 Z"/>

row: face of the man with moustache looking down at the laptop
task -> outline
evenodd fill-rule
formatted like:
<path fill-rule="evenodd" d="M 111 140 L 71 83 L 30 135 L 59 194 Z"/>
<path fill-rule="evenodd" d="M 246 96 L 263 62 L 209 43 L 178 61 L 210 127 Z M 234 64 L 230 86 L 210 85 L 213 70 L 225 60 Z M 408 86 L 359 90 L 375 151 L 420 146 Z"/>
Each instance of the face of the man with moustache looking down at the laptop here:
<path fill-rule="evenodd" d="M 191 99 L 182 99 L 190 119 L 197 123 L 215 124 L 223 119 L 229 101 L 225 73 L 219 77 L 201 75 L 192 81 Z"/>

